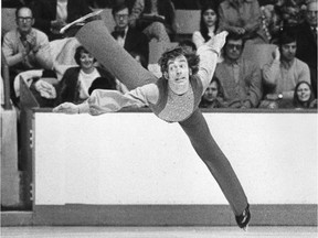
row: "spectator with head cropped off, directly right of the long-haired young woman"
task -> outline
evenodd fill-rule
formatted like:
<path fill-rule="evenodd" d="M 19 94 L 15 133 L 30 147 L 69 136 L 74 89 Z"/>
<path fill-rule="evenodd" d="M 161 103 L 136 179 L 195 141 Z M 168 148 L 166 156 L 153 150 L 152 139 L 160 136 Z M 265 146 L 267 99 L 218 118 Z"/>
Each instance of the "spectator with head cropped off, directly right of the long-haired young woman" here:
<path fill-rule="evenodd" d="M 262 14 L 257 0 L 224 0 L 219 7 L 220 31 L 226 30 L 253 40 L 254 43 L 267 43 L 262 28 Z"/>

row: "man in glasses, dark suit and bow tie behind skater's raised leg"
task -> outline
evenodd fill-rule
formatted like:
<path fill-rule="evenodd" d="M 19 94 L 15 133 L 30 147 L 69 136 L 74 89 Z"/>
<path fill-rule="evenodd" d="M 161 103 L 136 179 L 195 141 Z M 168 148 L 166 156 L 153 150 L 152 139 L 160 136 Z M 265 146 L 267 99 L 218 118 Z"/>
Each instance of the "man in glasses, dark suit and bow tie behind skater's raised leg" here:
<path fill-rule="evenodd" d="M 130 9 L 126 4 L 115 6 L 112 10 L 115 20 L 115 29 L 112 32 L 113 37 L 128 53 L 137 53 L 146 58 L 148 65 L 149 58 L 149 42 L 148 37 L 140 31 L 129 28 L 128 20 Z"/>

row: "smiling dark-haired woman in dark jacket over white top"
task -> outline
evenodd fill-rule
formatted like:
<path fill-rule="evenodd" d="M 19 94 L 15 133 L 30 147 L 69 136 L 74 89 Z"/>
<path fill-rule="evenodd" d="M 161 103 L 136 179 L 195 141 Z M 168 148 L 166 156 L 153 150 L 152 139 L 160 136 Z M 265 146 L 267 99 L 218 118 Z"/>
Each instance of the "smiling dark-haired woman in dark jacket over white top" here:
<path fill-rule="evenodd" d="M 86 100 L 93 82 L 100 77 L 103 80 L 98 79 L 99 88 L 116 89 L 115 77 L 107 71 L 95 67 L 95 58 L 83 46 L 76 48 L 74 58 L 78 66 L 66 69 L 57 86 L 57 104 L 64 101 L 80 104 Z"/>

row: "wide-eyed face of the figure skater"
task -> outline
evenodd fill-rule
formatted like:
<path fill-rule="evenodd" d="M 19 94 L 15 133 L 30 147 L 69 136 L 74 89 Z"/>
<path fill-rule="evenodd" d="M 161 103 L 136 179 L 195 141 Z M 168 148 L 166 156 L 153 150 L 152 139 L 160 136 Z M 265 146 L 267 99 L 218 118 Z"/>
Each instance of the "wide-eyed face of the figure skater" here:
<path fill-rule="evenodd" d="M 169 88 L 177 95 L 183 95 L 189 89 L 189 76 L 191 69 L 183 55 L 168 61 L 168 72 L 165 77 L 168 79 Z"/>

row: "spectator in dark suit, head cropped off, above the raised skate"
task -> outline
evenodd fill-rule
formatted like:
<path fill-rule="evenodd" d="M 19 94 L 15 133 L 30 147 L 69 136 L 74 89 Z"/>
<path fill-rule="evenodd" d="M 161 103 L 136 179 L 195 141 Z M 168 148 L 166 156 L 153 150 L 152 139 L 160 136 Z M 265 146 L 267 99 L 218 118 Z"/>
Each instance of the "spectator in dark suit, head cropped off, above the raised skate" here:
<path fill-rule="evenodd" d="M 34 28 L 45 32 L 50 41 L 62 39 L 60 30 L 63 26 L 89 12 L 86 0 L 36 0 Z"/>

